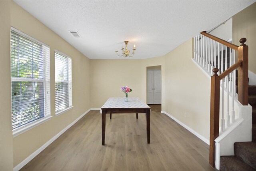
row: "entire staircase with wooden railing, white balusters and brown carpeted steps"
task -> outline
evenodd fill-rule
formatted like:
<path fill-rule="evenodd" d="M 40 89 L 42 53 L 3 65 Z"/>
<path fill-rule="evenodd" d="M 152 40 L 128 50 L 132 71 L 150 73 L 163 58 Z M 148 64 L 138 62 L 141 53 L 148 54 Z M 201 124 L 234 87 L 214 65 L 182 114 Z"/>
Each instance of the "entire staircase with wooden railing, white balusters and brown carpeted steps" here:
<path fill-rule="evenodd" d="M 221 171 L 256 170 L 256 86 L 248 86 L 246 38 L 239 42 L 206 31 L 194 38 L 192 61 L 211 78 L 209 164 Z"/>

